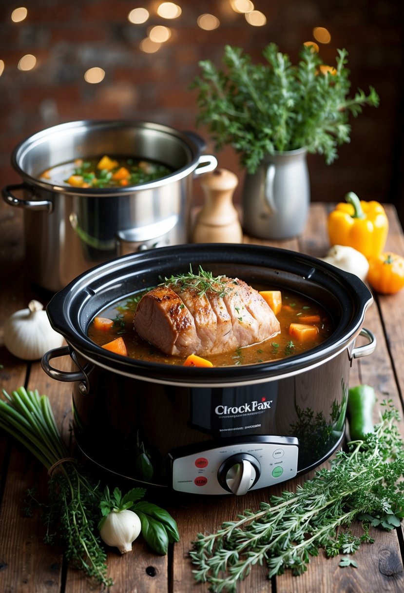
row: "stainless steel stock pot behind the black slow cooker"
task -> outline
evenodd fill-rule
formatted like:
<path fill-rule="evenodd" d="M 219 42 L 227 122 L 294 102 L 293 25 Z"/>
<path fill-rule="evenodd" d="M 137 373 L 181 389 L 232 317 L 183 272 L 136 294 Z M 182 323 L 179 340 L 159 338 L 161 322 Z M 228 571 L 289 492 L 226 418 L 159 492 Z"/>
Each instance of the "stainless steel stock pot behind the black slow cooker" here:
<path fill-rule="evenodd" d="M 28 273 L 52 292 L 81 272 L 124 253 L 186 243 L 194 174 L 216 168 L 202 139 L 157 123 L 84 120 L 42 130 L 21 142 L 11 163 L 23 183 L 4 187 L 24 208 Z M 118 188 L 56 186 L 39 176 L 73 161 L 107 154 L 159 161 L 173 173 Z M 15 192 L 23 191 L 23 197 Z"/>

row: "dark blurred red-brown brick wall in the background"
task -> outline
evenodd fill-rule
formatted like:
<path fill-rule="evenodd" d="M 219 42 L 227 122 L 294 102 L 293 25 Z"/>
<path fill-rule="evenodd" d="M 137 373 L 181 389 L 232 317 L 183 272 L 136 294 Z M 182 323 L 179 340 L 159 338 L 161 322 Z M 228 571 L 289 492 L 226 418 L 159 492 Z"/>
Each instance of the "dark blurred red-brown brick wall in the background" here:
<path fill-rule="evenodd" d="M 75 119 L 133 118 L 178 129 L 196 129 L 195 93 L 188 85 L 198 74 L 198 60 L 218 65 L 226 43 L 241 46 L 255 60 L 269 42 L 296 60 L 300 45 L 312 40 L 313 27 L 331 32 L 331 43 L 320 48 L 334 63 L 336 48 L 349 52 L 352 92 L 373 85 L 380 94 L 378 109 L 366 108 L 351 120 L 351 143 L 339 149 L 328 166 L 319 155 L 309 157 L 313 200 L 341 200 L 354 190 L 364 199 L 396 203 L 403 216 L 402 183 L 402 0 L 256 0 L 267 17 L 264 27 L 252 27 L 229 7 L 229 0 L 177 0 L 182 14 L 173 21 L 156 14 L 159 2 L 145 0 L 30 0 L 27 18 L 12 23 L 19 2 L 0 8 L 0 181 L 19 181 L 9 164 L 12 148 L 37 130 Z M 133 25 L 132 8 L 144 5 L 149 21 Z M 198 15 L 210 12 L 220 20 L 214 31 L 197 27 Z M 139 49 L 150 25 L 172 28 L 171 39 L 156 53 Z M 21 56 L 31 53 L 37 65 L 18 70 Z M 92 66 L 105 70 L 100 84 L 84 81 Z M 197 132 L 214 152 L 209 135 Z M 232 149 L 217 154 L 219 165 L 243 172 Z M 195 202 L 201 190 L 195 181 Z M 240 187 L 235 199 L 239 200 Z"/>

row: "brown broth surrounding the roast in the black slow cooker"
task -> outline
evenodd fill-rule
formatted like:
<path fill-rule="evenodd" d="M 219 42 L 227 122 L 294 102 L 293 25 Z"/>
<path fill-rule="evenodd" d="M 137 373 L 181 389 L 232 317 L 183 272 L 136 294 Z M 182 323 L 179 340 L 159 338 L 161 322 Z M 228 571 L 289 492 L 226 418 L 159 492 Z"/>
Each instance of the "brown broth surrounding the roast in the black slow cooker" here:
<path fill-rule="evenodd" d="M 256 286 L 254 288 L 257 290 L 268 290 L 268 288 L 257 288 Z M 333 329 L 331 318 L 325 309 L 320 307 L 315 301 L 307 297 L 302 297 L 302 295 L 297 293 L 284 289 L 281 292 L 283 307 L 277 315 L 281 326 L 280 334 L 259 344 L 244 346 L 225 354 L 204 356 L 204 358 L 211 361 L 213 366 L 256 364 L 297 355 L 324 342 L 331 335 Z M 108 331 L 97 330 L 94 328 L 93 322 L 91 322 L 88 329 L 88 337 L 99 346 L 103 346 L 118 336 L 121 336 L 124 339 L 128 356 L 131 358 L 171 365 L 184 364 L 185 358 L 168 356 L 162 353 L 140 338 L 133 329 L 133 314 L 139 298 L 140 295 L 137 293 L 133 297 L 116 302 L 100 311 L 97 317 L 106 317 L 114 320 L 113 328 Z M 291 338 L 288 329 L 291 323 L 303 323 L 299 319 L 304 317 L 304 315 L 319 315 L 320 322 L 315 323 L 319 331 L 315 339 L 307 340 L 307 342 L 299 342 Z"/>

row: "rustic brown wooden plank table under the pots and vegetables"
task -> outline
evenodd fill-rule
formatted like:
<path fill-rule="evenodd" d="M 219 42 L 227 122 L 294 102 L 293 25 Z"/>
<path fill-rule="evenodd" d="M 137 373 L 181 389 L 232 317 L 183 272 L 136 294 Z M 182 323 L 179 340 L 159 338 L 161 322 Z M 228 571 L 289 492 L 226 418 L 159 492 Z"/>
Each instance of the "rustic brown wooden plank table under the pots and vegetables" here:
<path fill-rule="evenodd" d="M 328 206 L 329 208 L 329 206 Z M 387 247 L 404 254 L 404 235 L 395 210 L 386 206 L 390 219 Z M 326 235 L 326 206 L 313 203 L 309 221 L 303 235 L 290 241 L 272 242 L 275 246 L 322 256 L 328 249 Z M 22 213 L 2 203 L 0 206 L 0 345 L 2 327 L 15 310 L 27 306 L 31 298 L 44 304 L 50 295 L 44 293 L 26 278 L 22 245 Z M 246 243 L 264 243 L 245 238 Z M 392 398 L 404 416 L 404 291 L 389 297 L 375 297 L 366 314 L 365 327 L 377 337 L 376 351 L 354 361 L 350 382 L 356 385 L 367 382 L 376 388 L 377 397 Z M 66 357 L 67 358 L 67 357 Z M 62 359 L 60 359 L 62 360 Z M 69 438 L 70 387 L 53 381 L 42 371 L 40 363 L 27 364 L 10 355 L 0 346 L 1 387 L 12 391 L 20 385 L 38 388 L 46 393 L 52 403 L 57 423 Z M 403 430 L 403 429 L 402 429 Z M 43 543 L 44 528 L 38 514 L 24 517 L 23 507 L 28 488 L 39 487 L 39 496 L 46 493 L 47 475 L 40 464 L 11 439 L 0 435 L 0 591 L 7 593 L 85 593 L 94 591 L 81 572 L 70 569 L 57 548 Z M 281 489 L 294 489 L 310 477 L 281 484 Z M 114 550 L 108 551 L 109 574 L 114 579 L 116 593 L 190 593 L 206 592 L 207 585 L 195 584 L 193 566 L 188 557 L 191 542 L 200 531 L 213 531 L 222 521 L 236 518 L 245 508 L 258 508 L 267 500 L 271 490 L 258 490 L 246 496 L 154 500 L 171 512 L 177 520 L 181 540 L 169 550 L 167 556 L 151 553 L 141 538 L 133 545 L 133 552 L 121 557 Z M 360 525 L 352 531 L 360 533 Z M 404 534 L 402 528 L 389 533 L 371 530 L 374 544 L 363 544 L 355 555 L 358 568 L 340 568 L 339 558 L 326 559 L 322 554 L 313 558 L 309 569 L 299 577 L 290 572 L 273 579 L 266 578 L 265 567 L 255 567 L 239 591 L 297 593 L 363 591 L 366 593 L 404 591 Z M 151 569 L 151 567 L 154 569 Z M 154 575 L 154 576 L 153 576 Z"/>

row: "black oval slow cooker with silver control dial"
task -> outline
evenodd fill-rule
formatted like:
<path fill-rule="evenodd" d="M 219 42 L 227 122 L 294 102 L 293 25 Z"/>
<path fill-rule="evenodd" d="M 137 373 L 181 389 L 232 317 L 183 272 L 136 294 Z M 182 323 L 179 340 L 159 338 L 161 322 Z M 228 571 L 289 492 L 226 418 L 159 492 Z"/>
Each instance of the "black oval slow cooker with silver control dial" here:
<path fill-rule="evenodd" d="M 88 338 L 92 318 L 111 302 L 188 272 L 190 264 L 306 295 L 326 308 L 334 330 L 305 353 L 227 368 L 143 362 Z M 42 365 L 50 377 L 73 382 L 76 440 L 94 463 L 180 492 L 243 494 L 305 473 L 338 447 L 352 360 L 376 346 L 363 328 L 372 300 L 357 276 L 293 251 L 163 247 L 97 266 L 54 295 L 47 314 L 68 346 L 47 352 Z M 355 345 L 359 334 L 363 345 Z M 63 355 L 72 358 L 71 372 L 50 362 Z"/>

